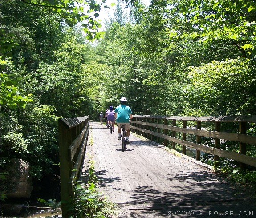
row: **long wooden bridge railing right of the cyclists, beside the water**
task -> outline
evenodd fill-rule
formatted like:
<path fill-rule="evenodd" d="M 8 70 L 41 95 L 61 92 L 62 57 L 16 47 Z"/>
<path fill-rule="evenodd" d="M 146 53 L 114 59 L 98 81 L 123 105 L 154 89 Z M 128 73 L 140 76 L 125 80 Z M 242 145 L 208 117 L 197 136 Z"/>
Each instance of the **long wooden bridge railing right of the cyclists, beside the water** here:
<path fill-rule="evenodd" d="M 221 125 L 227 123 L 237 124 L 237 133 L 221 132 Z M 171 123 L 171 124 L 170 124 Z M 177 125 L 179 123 L 179 125 Z M 201 129 L 202 125 L 211 123 L 214 129 Z M 175 149 L 175 145 L 182 145 L 183 154 L 186 154 L 187 147 L 196 149 L 196 159 L 200 160 L 201 151 L 214 155 L 217 165 L 219 157 L 225 157 L 240 162 L 240 169 L 246 170 L 246 164 L 256 167 L 256 158 L 246 155 L 246 145 L 255 146 L 256 136 L 247 135 L 248 124 L 256 123 L 255 115 L 220 116 L 220 117 L 170 117 L 154 115 L 134 115 L 130 121 L 131 131 L 141 134 L 153 141 L 163 142 Z M 188 126 L 190 125 L 190 126 Z M 195 141 L 188 141 L 187 134 L 193 135 Z M 202 137 L 214 139 L 214 147 L 201 145 Z M 220 140 L 237 142 L 239 153 L 220 149 Z"/>

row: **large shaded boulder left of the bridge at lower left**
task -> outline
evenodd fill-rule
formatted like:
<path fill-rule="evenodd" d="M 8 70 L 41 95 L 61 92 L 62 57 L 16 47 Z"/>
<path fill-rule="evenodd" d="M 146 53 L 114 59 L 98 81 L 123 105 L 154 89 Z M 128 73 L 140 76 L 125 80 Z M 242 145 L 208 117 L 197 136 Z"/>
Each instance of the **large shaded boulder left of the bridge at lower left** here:
<path fill-rule="evenodd" d="M 1 192 L 8 198 L 29 198 L 32 192 L 32 179 L 29 175 L 30 165 L 21 159 L 12 159 L 6 179 L 1 181 Z"/>

